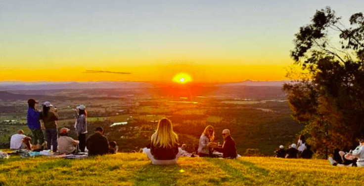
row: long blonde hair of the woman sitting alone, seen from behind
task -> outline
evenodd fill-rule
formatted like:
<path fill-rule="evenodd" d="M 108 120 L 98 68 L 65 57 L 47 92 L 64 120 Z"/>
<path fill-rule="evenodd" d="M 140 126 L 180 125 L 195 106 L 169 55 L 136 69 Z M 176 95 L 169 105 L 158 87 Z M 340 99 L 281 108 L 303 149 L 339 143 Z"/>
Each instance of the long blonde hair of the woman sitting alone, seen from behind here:
<path fill-rule="evenodd" d="M 178 144 L 177 134 L 173 132 L 172 122 L 169 119 L 159 120 L 157 130 L 151 137 L 151 142 L 154 147 L 164 148 L 172 148 Z"/>

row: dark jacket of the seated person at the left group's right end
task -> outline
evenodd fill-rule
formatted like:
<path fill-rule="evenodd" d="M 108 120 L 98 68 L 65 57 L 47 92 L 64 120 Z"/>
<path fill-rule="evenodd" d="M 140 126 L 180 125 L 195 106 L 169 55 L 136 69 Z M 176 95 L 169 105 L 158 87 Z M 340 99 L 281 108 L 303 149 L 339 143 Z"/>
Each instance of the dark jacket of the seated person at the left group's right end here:
<path fill-rule="evenodd" d="M 98 132 L 92 134 L 87 139 L 86 147 L 89 149 L 89 156 L 109 153 L 109 142 L 107 138 Z"/>

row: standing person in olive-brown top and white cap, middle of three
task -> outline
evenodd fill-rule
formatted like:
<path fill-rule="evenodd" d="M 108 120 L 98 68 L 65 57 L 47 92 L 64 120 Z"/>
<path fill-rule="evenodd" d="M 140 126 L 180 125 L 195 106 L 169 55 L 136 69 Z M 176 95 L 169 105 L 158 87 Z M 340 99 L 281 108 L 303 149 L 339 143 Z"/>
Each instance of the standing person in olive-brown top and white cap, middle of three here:
<path fill-rule="evenodd" d="M 53 112 L 50 111 L 50 108 L 53 107 L 50 102 L 43 103 L 43 112 L 41 112 L 41 121 L 43 121 L 43 125 L 46 128 L 46 138 L 47 138 L 47 149 L 50 150 L 52 146 L 53 152 L 57 151 L 57 123 L 58 114 L 57 110 L 54 109 Z"/>

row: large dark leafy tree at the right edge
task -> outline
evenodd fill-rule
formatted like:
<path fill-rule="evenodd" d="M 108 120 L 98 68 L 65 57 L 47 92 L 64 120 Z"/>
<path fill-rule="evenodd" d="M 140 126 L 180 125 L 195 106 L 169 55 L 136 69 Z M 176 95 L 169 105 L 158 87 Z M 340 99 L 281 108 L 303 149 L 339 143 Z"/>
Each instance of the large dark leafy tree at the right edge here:
<path fill-rule="evenodd" d="M 300 28 L 291 57 L 310 78 L 283 86 L 308 143 L 326 154 L 357 145 L 364 129 L 364 16 L 353 14 L 348 29 L 340 20 L 326 7 Z"/>

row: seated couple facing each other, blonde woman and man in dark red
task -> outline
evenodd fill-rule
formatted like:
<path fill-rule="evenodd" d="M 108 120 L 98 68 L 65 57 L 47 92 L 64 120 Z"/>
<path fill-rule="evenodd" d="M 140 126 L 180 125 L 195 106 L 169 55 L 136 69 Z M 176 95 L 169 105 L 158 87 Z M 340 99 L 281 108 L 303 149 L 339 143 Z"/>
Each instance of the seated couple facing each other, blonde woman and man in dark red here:
<path fill-rule="evenodd" d="M 214 127 L 209 125 L 202 133 L 198 146 L 198 156 L 200 157 L 215 157 L 213 151 L 223 153 L 224 158 L 236 158 L 235 141 L 231 138 L 230 130 L 224 129 L 222 132 L 224 138 L 224 144 L 222 147 L 218 147 L 218 143 L 214 142 L 215 131 Z"/>

